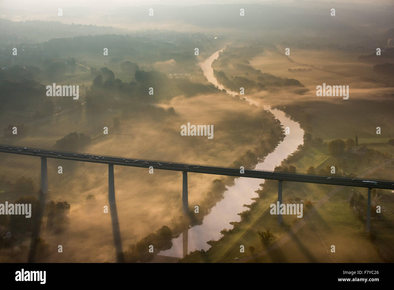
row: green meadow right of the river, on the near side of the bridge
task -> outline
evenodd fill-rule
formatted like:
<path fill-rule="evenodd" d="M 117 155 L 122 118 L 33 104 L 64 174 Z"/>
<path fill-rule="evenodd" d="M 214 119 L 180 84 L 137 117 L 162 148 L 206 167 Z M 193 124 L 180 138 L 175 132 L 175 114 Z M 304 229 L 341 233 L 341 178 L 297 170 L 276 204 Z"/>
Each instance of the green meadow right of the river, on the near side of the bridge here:
<path fill-rule="evenodd" d="M 317 185 L 314 187 L 318 189 Z M 329 191 L 331 189 L 326 193 Z M 357 191 L 366 198 L 366 189 L 358 189 Z M 349 188 L 346 187 L 335 196 L 343 195 L 346 192 L 348 193 L 347 199 Z M 291 202 L 291 198 L 286 198 L 288 195 L 284 190 L 285 203 Z M 385 196 L 389 195 L 391 194 L 386 191 Z M 226 234 L 222 239 L 214 242 L 213 247 L 206 255 L 191 254 L 184 259 L 185 262 L 207 262 L 208 260 L 209 262 L 233 262 L 235 258 L 251 256 L 250 246 L 255 248 L 255 252 L 266 249 L 257 235 L 258 230 L 269 229 L 275 237 L 273 242 L 284 237 L 288 230 L 301 219 L 284 215 L 282 225 L 277 225 L 276 215 L 269 214 L 271 202 L 276 202 L 275 192 L 270 192 L 259 200 L 250 219 L 243 221 L 230 234 Z M 372 204 L 376 204 L 376 202 L 385 205 L 382 210 L 383 219 L 373 218 L 371 221 L 372 232 L 377 237 L 374 243 L 368 240 L 368 235 L 365 233 L 365 221 L 357 219 L 355 211 L 349 207 L 349 202 L 327 201 L 317 213 L 314 213 L 312 217 L 307 217 L 307 223 L 288 242 L 263 257 L 254 259 L 253 262 L 333 262 L 334 260 L 336 262 L 369 262 L 371 259 L 375 262 L 392 261 L 394 259 L 393 242 L 388 237 L 393 234 L 394 211 L 392 209 L 394 202 L 392 198 L 391 200 L 386 198 L 383 201 L 372 196 Z M 308 211 L 304 210 L 304 216 L 307 213 Z M 240 245 L 244 245 L 245 253 L 240 253 Z M 331 245 L 335 245 L 335 253 L 331 253 Z M 349 245 L 353 246 L 349 247 Z M 338 251 L 340 252 L 338 253 Z M 289 255 L 289 253 L 294 254 Z M 385 253 L 384 256 L 383 253 Z"/>

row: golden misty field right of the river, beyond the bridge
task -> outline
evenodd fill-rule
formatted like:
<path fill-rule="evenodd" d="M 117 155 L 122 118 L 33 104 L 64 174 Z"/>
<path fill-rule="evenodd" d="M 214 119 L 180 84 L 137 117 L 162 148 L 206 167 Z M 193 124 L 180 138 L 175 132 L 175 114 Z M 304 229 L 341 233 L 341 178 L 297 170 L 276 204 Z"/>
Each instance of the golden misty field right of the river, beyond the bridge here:
<path fill-rule="evenodd" d="M 290 58 L 297 55 L 297 62 L 314 64 L 319 67 L 322 62 L 320 51 L 308 51 L 304 54 L 296 52 L 290 54 Z M 295 78 L 307 89 L 302 95 L 295 97 L 289 94 L 286 88 L 281 92 L 266 94 L 260 92 L 253 98 L 262 98 L 266 103 L 277 105 L 284 109 L 292 118 L 305 125 L 311 126 L 312 135 L 323 139 L 354 138 L 358 135 L 363 138 L 392 138 L 394 136 L 394 123 L 392 122 L 392 85 L 379 82 L 377 75 L 370 70 L 362 70 L 365 64 L 358 62 L 352 53 L 329 51 L 324 52 L 325 57 L 336 60 L 346 58 L 347 62 L 337 61 L 332 70 L 324 71 L 311 68 L 311 71 L 288 72 L 288 69 L 305 68 L 297 63 L 290 62 L 284 54 L 274 51 L 264 51 L 259 56 L 250 60 L 255 69 L 264 73 L 271 73 L 280 77 Z M 359 77 L 357 73 L 340 74 L 352 62 L 352 69 L 368 73 L 368 81 Z M 357 76 L 357 77 L 353 77 Z M 327 85 L 348 85 L 349 99 L 342 97 L 316 97 L 316 86 L 326 83 Z M 351 116 L 351 120 L 349 120 Z M 376 135 L 376 127 L 381 127 L 381 135 Z M 378 137 L 379 136 L 379 137 Z M 381 141 L 382 142 L 382 141 Z M 387 142 L 387 141 L 385 141 Z M 362 142 L 359 142 L 362 143 Z"/>

